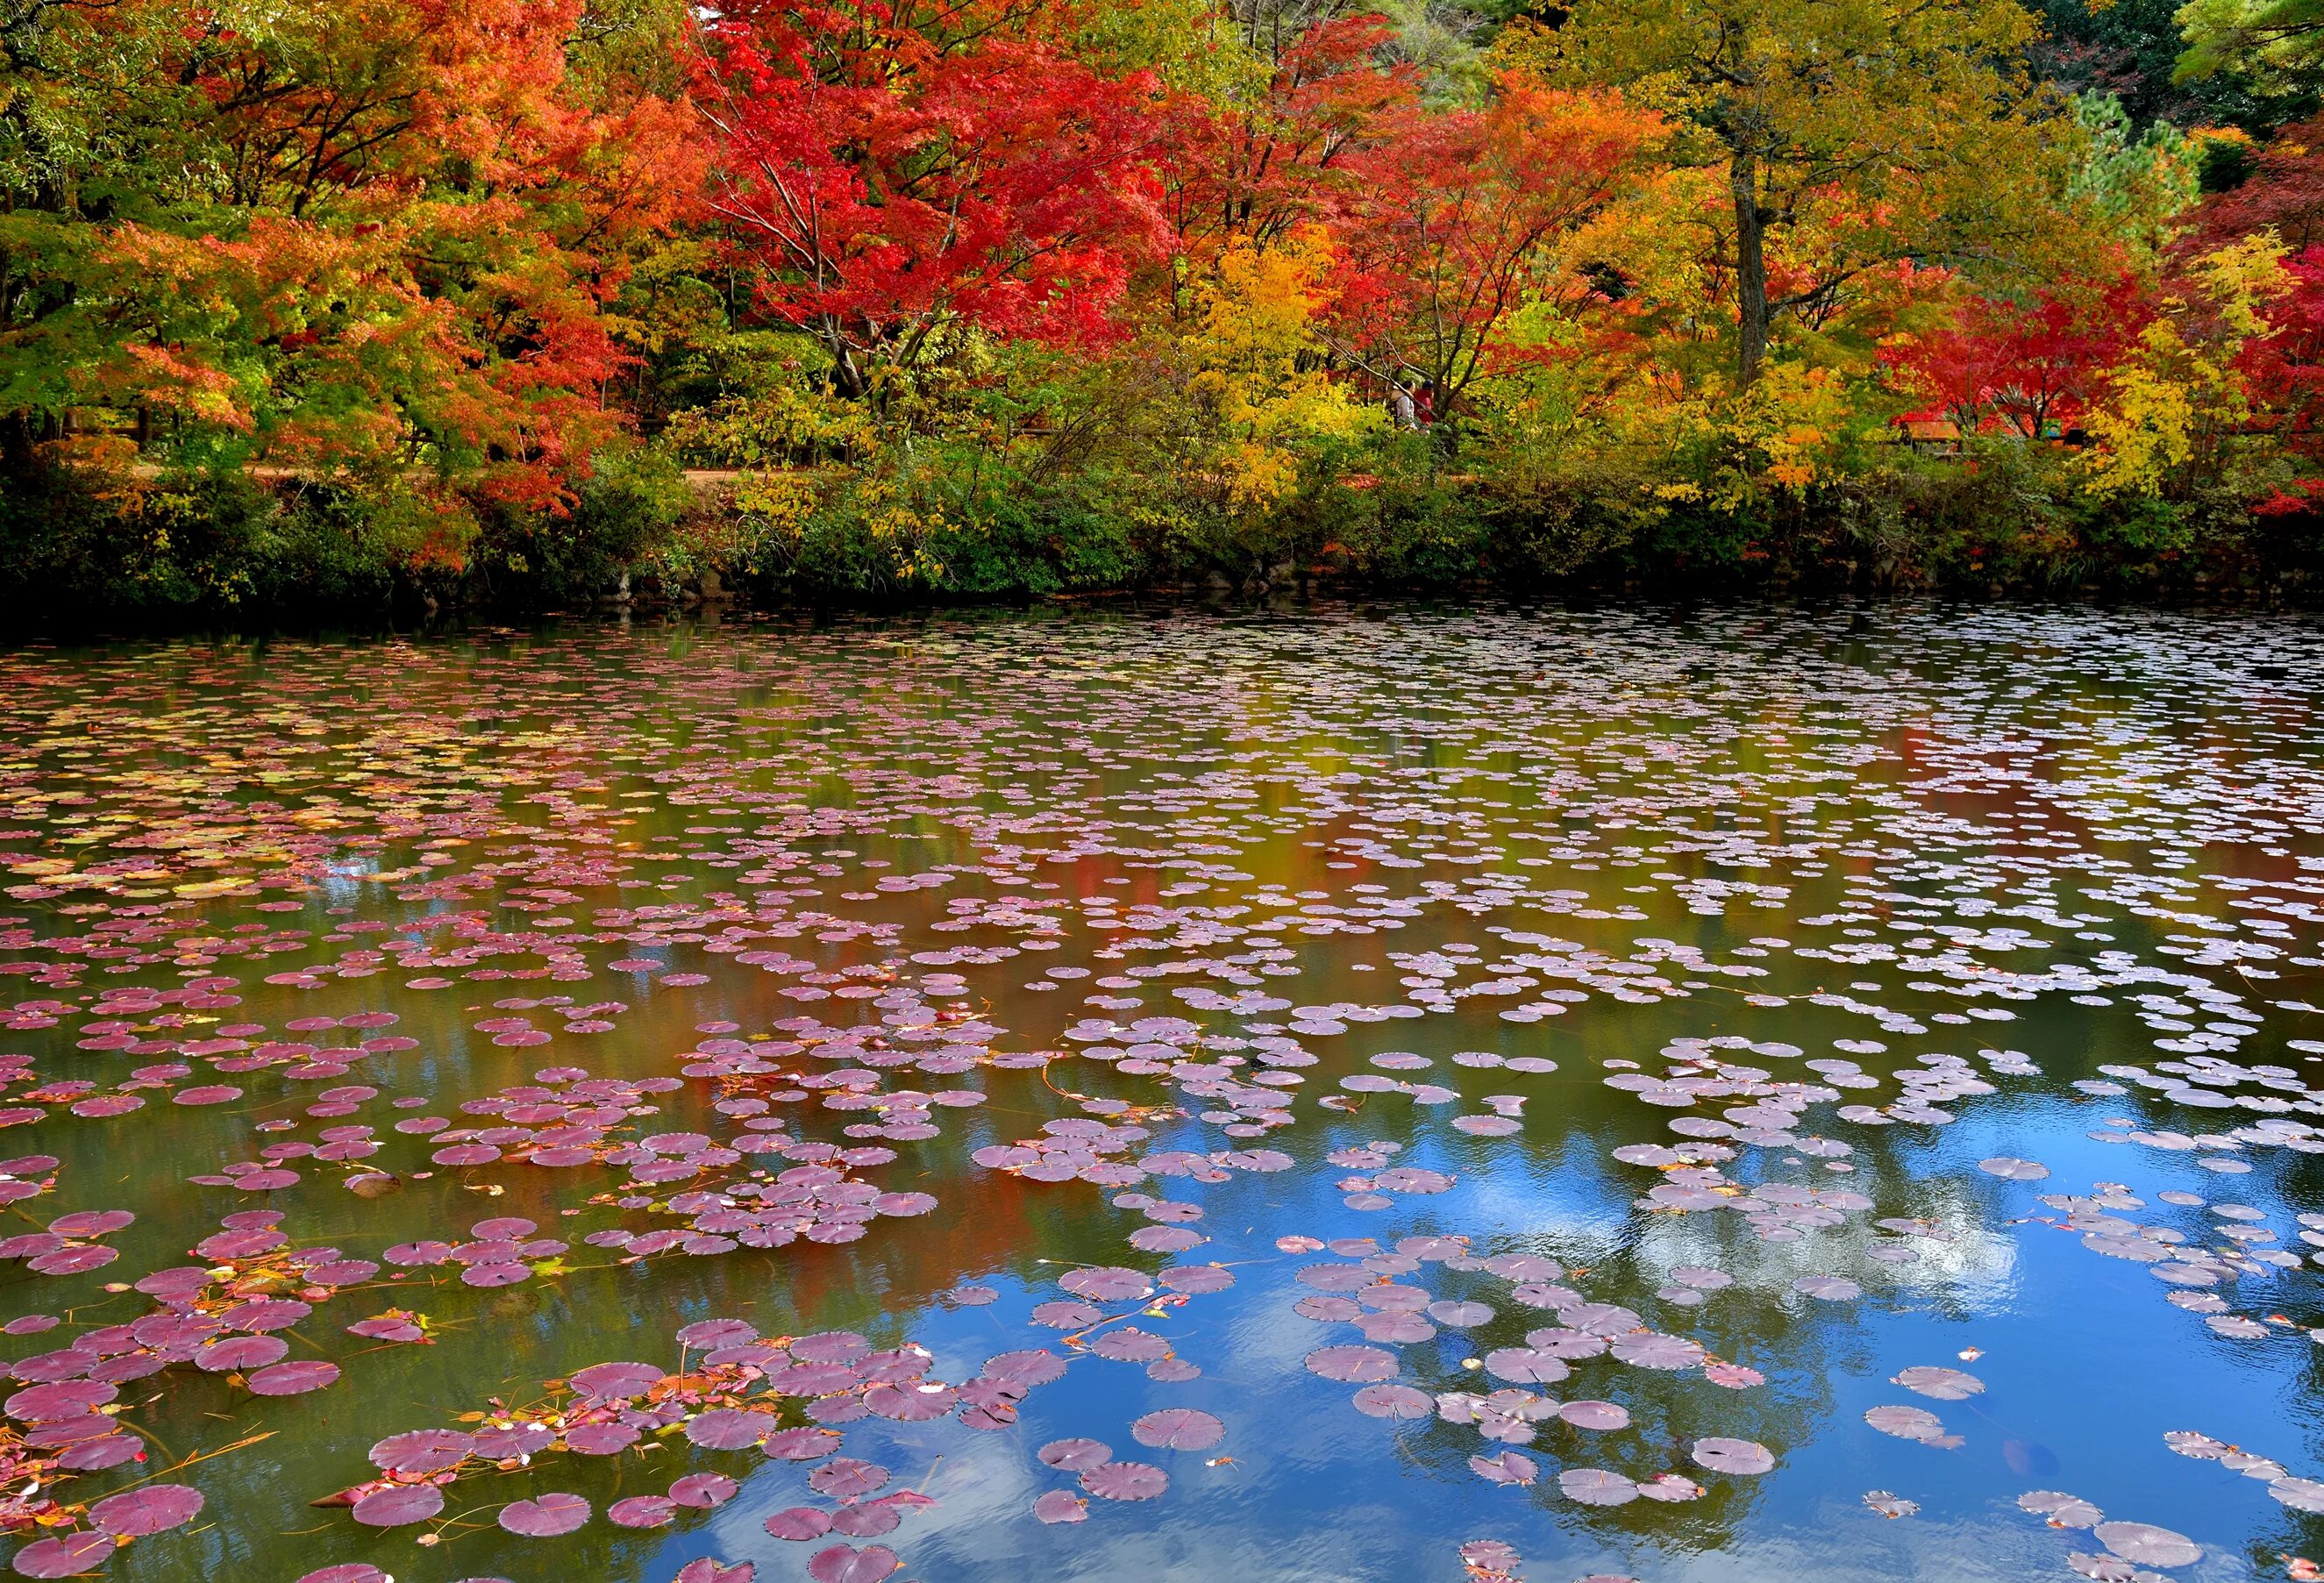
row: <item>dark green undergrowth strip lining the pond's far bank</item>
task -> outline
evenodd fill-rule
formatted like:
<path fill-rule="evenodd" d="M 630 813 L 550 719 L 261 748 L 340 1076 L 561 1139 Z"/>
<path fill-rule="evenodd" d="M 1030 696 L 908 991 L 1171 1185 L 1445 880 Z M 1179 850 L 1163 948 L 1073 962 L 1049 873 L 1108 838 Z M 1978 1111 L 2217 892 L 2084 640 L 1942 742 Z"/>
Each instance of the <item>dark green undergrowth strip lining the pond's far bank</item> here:
<path fill-rule="evenodd" d="M 1418 449 L 1418 446 L 1413 446 Z M 67 470 L 0 502 L 0 625 L 23 632 L 207 621 L 539 614 L 739 600 L 888 607 L 1116 590 L 1852 590 L 2271 600 L 2324 595 L 2310 514 L 2233 495 L 2092 502 L 2071 458 L 2013 442 L 1757 511 L 1652 500 L 1597 472 L 1525 488 L 1439 458 L 1313 479 L 1255 521 L 1150 509 L 1136 477 L 923 477 L 909 537 L 851 493 L 797 521 L 737 504 L 660 458 L 609 465 L 567 516 L 483 514 L 458 563 L 393 486 L 165 474 L 123 500 Z M 1394 465 L 1401 463 L 1401 465 Z M 860 488 L 860 486 L 858 486 Z"/>

